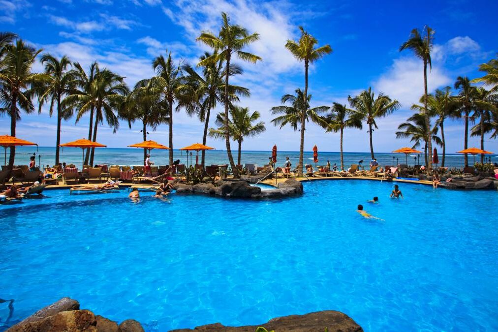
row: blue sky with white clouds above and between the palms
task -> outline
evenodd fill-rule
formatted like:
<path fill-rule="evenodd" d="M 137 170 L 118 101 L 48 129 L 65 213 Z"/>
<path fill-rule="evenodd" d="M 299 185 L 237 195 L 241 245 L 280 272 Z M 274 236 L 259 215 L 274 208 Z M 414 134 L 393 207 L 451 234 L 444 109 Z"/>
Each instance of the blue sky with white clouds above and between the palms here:
<path fill-rule="evenodd" d="M 287 39 L 299 37 L 302 25 L 320 45 L 330 44 L 333 54 L 312 65 L 309 92 L 312 106 L 346 103 L 369 86 L 397 99 L 402 108 L 378 121 L 374 149 L 386 152 L 411 146 L 395 139 L 394 131 L 412 111 L 410 106 L 423 93 L 421 61 L 408 51 L 398 52 L 414 27 L 429 24 L 436 31 L 429 91 L 453 85 L 457 76 L 475 78 L 479 64 L 498 51 L 497 1 L 253 1 L 253 0 L 0 0 L 0 30 L 21 38 L 56 56 L 68 55 L 85 68 L 97 60 L 126 77 L 130 87 L 153 75 L 152 59 L 171 51 L 175 59 L 195 65 L 205 48 L 195 42 L 201 30 L 218 32 L 220 12 L 226 11 L 234 23 L 260 34 L 249 50 L 263 58 L 256 64 L 243 64 L 245 74 L 234 82 L 250 88 L 252 96 L 242 106 L 261 113 L 267 130 L 244 142 L 243 149 L 266 150 L 274 143 L 282 150 L 298 150 L 299 133 L 274 127 L 269 110 L 280 97 L 304 86 L 303 64 L 284 48 Z M 37 63 L 35 70 L 41 71 Z M 0 132 L 8 133 L 9 121 L 0 119 Z M 88 118 L 75 124 L 63 123 L 62 141 L 87 135 Z M 42 114 L 23 115 L 19 137 L 40 145 L 55 144 L 55 119 Z M 182 111 L 175 113 L 174 147 L 201 141 L 203 125 Z M 122 123 L 117 134 L 101 127 L 98 141 L 124 147 L 141 140 L 139 125 L 128 129 Z M 150 139 L 167 142 L 167 127 L 149 130 Z M 463 148 L 463 124 L 446 125 L 447 151 Z M 309 124 L 305 149 L 317 144 L 322 151 L 338 151 L 339 136 L 324 133 Z M 478 146 L 471 138 L 470 145 Z M 496 140 L 486 138 L 486 147 L 498 150 Z M 224 142 L 209 145 L 223 148 Z M 368 151 L 367 129 L 347 130 L 345 151 Z"/>

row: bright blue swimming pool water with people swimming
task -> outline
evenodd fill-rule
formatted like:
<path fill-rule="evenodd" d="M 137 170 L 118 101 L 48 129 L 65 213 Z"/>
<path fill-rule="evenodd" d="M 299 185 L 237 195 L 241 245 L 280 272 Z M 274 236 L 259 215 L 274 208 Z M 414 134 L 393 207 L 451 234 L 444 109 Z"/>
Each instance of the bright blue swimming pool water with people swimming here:
<path fill-rule="evenodd" d="M 329 309 L 365 331 L 497 331 L 498 193 L 400 187 L 404 200 L 370 181 L 261 201 L 46 191 L 0 206 L 0 298 L 14 321 L 70 296 L 148 331 Z"/>

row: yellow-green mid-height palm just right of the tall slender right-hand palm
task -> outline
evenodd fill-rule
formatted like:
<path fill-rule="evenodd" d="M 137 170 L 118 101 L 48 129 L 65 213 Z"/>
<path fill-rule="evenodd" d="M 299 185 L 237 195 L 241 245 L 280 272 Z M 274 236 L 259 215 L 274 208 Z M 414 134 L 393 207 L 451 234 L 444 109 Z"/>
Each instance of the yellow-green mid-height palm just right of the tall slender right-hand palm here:
<path fill-rule="evenodd" d="M 420 98 L 420 103 L 424 102 L 424 96 Z M 443 158 L 441 159 L 441 167 L 444 167 L 446 158 L 446 140 L 444 137 L 444 121 L 450 117 L 458 116 L 458 103 L 455 97 L 451 95 L 451 87 L 437 89 L 434 95 L 427 96 L 428 114 L 429 116 L 437 116 L 436 125 L 441 129 L 441 144 L 443 148 Z M 412 105 L 414 111 L 423 113 L 424 107 L 421 105 Z"/>

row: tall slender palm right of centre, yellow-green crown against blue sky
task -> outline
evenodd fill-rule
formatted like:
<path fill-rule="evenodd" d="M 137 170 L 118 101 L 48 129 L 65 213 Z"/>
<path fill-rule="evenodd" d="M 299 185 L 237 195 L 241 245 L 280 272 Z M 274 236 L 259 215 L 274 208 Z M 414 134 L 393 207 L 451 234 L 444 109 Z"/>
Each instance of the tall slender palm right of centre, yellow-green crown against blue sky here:
<path fill-rule="evenodd" d="M 308 68 L 310 63 L 313 63 L 327 54 L 332 53 L 332 48 L 330 45 L 324 45 L 321 47 L 316 47 L 318 44 L 318 40 L 313 37 L 308 32 L 304 31 L 303 27 L 300 26 L 299 30 L 301 30 L 301 37 L 298 41 L 287 40 L 285 44 L 285 48 L 287 48 L 292 55 L 298 60 L 304 62 L 304 94 L 303 94 L 303 103 L 308 100 Z M 299 145 L 299 165 L 298 165 L 298 173 L 299 176 L 302 176 L 303 173 L 303 154 L 304 154 L 304 130 L 305 129 L 305 113 L 301 114 L 301 142 Z"/>

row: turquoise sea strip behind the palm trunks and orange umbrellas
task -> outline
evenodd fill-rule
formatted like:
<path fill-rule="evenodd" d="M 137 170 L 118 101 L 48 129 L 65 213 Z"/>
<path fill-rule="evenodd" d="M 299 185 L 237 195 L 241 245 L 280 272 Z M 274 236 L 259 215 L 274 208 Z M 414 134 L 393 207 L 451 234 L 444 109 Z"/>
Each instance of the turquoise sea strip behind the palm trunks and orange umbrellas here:
<path fill-rule="evenodd" d="M 271 149 L 271 147 L 269 147 Z M 3 151 L 2 151 L 3 152 Z M 29 157 L 36 153 L 36 163 L 41 161 L 42 165 L 50 164 L 52 165 L 55 161 L 55 148 L 53 147 L 18 147 L 16 149 L 15 164 L 29 164 Z M 169 152 L 165 150 L 152 150 L 151 160 L 155 162 L 156 165 L 166 165 L 169 163 Z M 237 152 L 233 150 L 235 162 L 237 162 Z M 41 156 L 39 159 L 38 156 Z M 174 150 L 174 159 L 180 159 L 182 164 L 195 164 L 196 152 L 193 151 L 192 159 L 188 159 L 185 151 Z M 268 163 L 268 157 L 271 156 L 271 150 L 268 151 L 243 151 L 242 152 L 242 164 L 246 163 L 256 163 L 258 165 L 264 165 Z M 283 166 L 285 157 L 289 157 L 293 166 L 296 166 L 299 161 L 299 151 L 278 151 L 277 155 L 277 165 Z M 420 155 L 423 162 L 423 154 Z M 406 161 L 405 155 L 400 153 L 375 153 L 375 157 L 380 165 L 392 165 L 394 157 L 394 164 L 404 164 Z M 7 150 L 8 158 L 8 150 Z M 305 163 L 312 163 L 313 152 L 304 152 Z M 469 156 L 470 162 L 473 161 L 473 157 Z M 492 161 L 498 161 L 496 155 L 491 156 Z M 318 165 L 325 165 L 327 160 L 330 160 L 331 164 L 337 163 L 340 167 L 341 159 L 339 152 L 322 152 L 318 151 Z M 345 152 L 344 153 L 344 166 L 350 167 L 351 164 L 357 164 L 360 160 L 364 160 L 364 165 L 368 166 L 370 163 L 370 152 Z M 439 156 L 441 161 L 441 156 Z M 81 167 L 82 160 L 82 150 L 79 148 L 63 148 L 61 150 L 61 162 L 73 163 L 78 167 Z M 199 153 L 199 163 L 201 160 L 201 155 Z M 476 160 L 480 160 L 480 156 L 476 156 Z M 136 148 L 100 148 L 96 149 L 94 164 L 117 164 L 117 165 L 143 165 L 143 150 Z M 206 165 L 210 164 L 225 164 L 228 163 L 227 152 L 224 150 L 210 150 L 206 152 Z M 414 165 L 415 158 L 408 156 L 408 164 Z M 418 162 L 417 157 L 417 164 Z M 460 154 L 449 154 L 446 155 L 446 166 L 449 167 L 463 167 L 464 157 Z"/>

